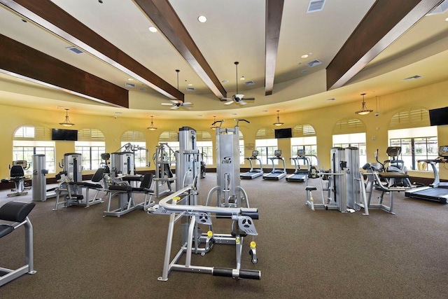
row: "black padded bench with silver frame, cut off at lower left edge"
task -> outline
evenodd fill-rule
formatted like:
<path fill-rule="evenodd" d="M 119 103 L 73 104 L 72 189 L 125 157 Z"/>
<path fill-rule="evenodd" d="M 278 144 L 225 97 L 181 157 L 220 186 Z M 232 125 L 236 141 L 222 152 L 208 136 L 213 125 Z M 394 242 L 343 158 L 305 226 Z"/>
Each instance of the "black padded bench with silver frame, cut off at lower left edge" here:
<path fill-rule="evenodd" d="M 7 202 L 0 207 L 0 220 L 10 221 L 12 224 L 0 223 L 0 238 L 13 232 L 20 226 L 25 227 L 25 256 L 26 264 L 22 267 L 11 270 L 0 267 L 0 286 L 22 276 L 23 274 L 34 274 L 33 258 L 33 225 L 29 221 L 28 214 L 34 208 L 34 202 Z M 4 252 L 2 253 L 4 254 Z"/>

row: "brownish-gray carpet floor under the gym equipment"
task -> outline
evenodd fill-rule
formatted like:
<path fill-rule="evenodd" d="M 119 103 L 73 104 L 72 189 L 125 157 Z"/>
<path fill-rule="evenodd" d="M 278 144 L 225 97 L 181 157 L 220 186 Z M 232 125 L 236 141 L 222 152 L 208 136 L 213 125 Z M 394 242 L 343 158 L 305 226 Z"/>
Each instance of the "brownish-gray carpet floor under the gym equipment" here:
<path fill-rule="evenodd" d="M 216 174 L 201 180 L 200 203 L 215 185 Z M 36 202 L 29 215 L 37 273 L 1 286 L 0 298 L 448 298 L 447 205 L 398 193 L 395 215 L 371 210 L 363 216 L 311 211 L 304 183 L 258 178 L 241 186 L 260 213 L 258 236 L 244 239 L 242 268 L 260 270 L 260 280 L 173 271 L 158 281 L 169 216 L 139 210 L 104 218 L 106 203 L 52 211 L 53 198 Z M 6 193 L 0 205 L 31 201 L 31 192 Z M 230 232 L 228 220 L 214 226 Z M 1 267 L 25 263 L 24 235 L 18 229 L 0 239 Z M 252 239 L 255 265 L 248 254 Z M 216 245 L 193 256 L 193 264 L 235 267 L 235 246 Z"/>

